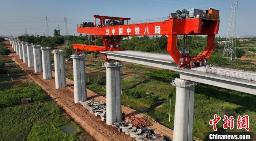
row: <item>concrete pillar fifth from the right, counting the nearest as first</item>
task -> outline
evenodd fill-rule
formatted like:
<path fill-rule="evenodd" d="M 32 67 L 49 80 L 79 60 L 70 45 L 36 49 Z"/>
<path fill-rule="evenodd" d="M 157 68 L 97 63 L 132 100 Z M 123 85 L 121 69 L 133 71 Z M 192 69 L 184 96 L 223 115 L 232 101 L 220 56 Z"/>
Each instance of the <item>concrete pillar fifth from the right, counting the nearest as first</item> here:
<path fill-rule="evenodd" d="M 50 59 L 50 47 L 40 48 L 42 51 L 43 78 L 52 79 L 52 67 Z"/>

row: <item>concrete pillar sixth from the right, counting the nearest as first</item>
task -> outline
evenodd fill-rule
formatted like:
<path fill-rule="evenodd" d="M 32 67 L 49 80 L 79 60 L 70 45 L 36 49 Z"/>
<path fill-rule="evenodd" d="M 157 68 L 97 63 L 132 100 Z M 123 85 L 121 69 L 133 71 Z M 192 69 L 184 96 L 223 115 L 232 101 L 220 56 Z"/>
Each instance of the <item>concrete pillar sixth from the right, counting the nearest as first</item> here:
<path fill-rule="evenodd" d="M 35 72 L 42 72 L 42 56 L 40 52 L 41 45 L 32 45 L 33 47 L 33 55 L 34 55 L 34 68 Z"/>

